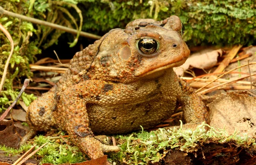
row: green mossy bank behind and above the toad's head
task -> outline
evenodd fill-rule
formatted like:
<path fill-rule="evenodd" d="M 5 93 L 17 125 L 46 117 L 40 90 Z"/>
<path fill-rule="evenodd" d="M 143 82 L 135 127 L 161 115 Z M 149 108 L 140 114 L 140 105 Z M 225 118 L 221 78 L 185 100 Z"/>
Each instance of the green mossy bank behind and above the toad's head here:
<path fill-rule="evenodd" d="M 250 45 L 256 40 L 256 6 L 243 0 L 77 0 L 83 11 L 84 31 L 125 28 L 131 20 L 171 15 L 186 26 L 184 40 L 190 45 Z M 97 14 L 95 14 L 97 13 Z"/>

